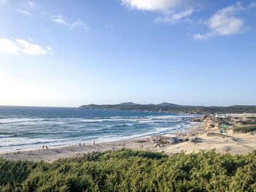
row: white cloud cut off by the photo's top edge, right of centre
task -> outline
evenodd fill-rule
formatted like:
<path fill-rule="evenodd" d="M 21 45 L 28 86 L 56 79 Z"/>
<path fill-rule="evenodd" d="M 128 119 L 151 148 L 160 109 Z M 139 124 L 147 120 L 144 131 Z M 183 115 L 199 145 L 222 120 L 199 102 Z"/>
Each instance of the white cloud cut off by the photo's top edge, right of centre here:
<path fill-rule="evenodd" d="M 189 18 L 195 11 L 195 0 L 121 0 L 121 4 L 129 9 L 159 12 L 162 16 L 157 23 L 175 24 Z"/>

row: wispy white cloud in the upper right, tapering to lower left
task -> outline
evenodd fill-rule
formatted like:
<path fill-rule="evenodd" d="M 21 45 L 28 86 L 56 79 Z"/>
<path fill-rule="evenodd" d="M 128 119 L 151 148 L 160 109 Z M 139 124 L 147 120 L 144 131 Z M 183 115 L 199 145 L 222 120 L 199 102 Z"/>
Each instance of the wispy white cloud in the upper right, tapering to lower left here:
<path fill-rule="evenodd" d="M 220 9 L 206 22 L 210 29 L 206 34 L 195 34 L 194 39 L 208 39 L 214 36 L 230 36 L 245 30 L 244 20 L 236 17 L 245 8 L 240 3 Z"/>

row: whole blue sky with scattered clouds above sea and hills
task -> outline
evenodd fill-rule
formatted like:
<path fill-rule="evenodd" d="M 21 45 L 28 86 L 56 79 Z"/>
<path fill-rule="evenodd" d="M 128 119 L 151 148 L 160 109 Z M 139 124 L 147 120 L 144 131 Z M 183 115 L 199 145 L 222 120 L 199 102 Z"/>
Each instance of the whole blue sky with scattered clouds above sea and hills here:
<path fill-rule="evenodd" d="M 256 105 L 256 1 L 0 0 L 0 105 Z"/>

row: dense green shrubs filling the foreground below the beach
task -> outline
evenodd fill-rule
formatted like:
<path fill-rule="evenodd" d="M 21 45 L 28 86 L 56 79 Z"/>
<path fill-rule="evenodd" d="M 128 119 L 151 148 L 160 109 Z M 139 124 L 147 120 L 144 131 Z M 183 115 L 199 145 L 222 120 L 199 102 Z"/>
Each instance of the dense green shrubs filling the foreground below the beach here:
<path fill-rule="evenodd" d="M 0 191 L 255 191 L 256 152 L 121 150 L 46 162 L 0 160 Z"/>

